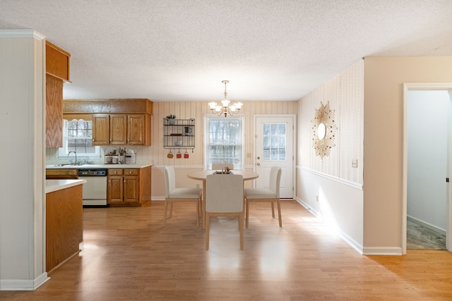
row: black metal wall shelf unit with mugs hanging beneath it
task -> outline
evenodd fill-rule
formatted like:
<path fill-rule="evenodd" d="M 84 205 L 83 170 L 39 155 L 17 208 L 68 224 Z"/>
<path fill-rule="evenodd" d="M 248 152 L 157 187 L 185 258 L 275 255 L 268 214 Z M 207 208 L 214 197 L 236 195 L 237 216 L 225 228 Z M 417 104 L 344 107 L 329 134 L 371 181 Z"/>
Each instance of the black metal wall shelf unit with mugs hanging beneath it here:
<path fill-rule="evenodd" d="M 163 147 L 165 149 L 195 148 L 195 120 L 163 118 Z"/>

